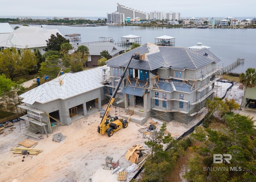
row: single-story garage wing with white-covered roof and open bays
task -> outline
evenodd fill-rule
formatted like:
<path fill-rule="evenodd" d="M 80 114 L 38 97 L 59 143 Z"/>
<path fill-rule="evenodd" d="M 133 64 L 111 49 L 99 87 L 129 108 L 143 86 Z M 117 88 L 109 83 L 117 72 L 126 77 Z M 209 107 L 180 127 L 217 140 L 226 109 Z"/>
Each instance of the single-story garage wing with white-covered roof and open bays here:
<path fill-rule="evenodd" d="M 21 94 L 19 97 L 24 104 L 19 107 L 28 110 L 22 118 L 47 125 L 50 133 L 49 121 L 70 125 L 76 119 L 101 110 L 103 84 L 108 74 L 106 66 L 66 73 Z"/>

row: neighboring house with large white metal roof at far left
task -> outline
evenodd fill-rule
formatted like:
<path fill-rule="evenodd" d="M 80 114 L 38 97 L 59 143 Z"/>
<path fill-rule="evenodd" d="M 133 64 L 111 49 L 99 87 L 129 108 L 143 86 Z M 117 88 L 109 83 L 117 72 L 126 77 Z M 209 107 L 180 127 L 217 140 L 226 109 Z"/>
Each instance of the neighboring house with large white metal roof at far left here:
<path fill-rule="evenodd" d="M 11 48 L 16 47 L 16 49 L 31 49 L 35 51 L 36 48 L 39 49 L 41 54 L 44 54 L 47 47 L 46 40 L 50 39 L 51 35 L 60 33 L 58 29 L 47 29 L 46 25 L 41 25 L 41 27 L 36 26 L 21 26 L 18 29 L 9 33 L 8 38 L 0 42 L 0 47 Z"/>

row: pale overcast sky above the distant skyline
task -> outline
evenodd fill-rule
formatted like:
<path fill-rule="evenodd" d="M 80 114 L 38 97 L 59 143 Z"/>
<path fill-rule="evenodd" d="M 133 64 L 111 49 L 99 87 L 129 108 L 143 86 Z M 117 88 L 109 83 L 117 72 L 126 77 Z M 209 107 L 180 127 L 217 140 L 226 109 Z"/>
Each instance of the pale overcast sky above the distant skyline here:
<path fill-rule="evenodd" d="M 179 12 L 180 17 L 256 17 L 254 0 L 6 0 L 0 3 L 1 16 L 107 17 L 117 3 L 150 13 Z"/>

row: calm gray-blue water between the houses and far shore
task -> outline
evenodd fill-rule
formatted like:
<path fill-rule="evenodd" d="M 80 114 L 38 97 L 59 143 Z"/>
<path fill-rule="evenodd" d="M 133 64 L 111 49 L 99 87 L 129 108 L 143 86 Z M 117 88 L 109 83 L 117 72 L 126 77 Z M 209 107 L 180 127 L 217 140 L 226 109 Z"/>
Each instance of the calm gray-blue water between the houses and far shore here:
<path fill-rule="evenodd" d="M 80 33 L 82 43 L 99 41 L 99 37 L 112 37 L 115 42 L 118 42 L 121 41 L 121 37 L 132 34 L 140 36 L 142 44 L 144 44 L 154 43 L 156 37 L 168 35 L 175 37 L 176 47 L 191 47 L 198 42 L 211 47 L 210 51 L 222 60 L 218 63 L 219 67 L 225 67 L 236 61 L 237 58 L 244 58 L 244 66 L 233 72 L 244 72 L 248 67 L 256 68 L 256 29 L 138 26 L 70 27 L 62 25 L 47 25 L 47 27 L 48 29 L 58 29 L 62 35 Z"/>

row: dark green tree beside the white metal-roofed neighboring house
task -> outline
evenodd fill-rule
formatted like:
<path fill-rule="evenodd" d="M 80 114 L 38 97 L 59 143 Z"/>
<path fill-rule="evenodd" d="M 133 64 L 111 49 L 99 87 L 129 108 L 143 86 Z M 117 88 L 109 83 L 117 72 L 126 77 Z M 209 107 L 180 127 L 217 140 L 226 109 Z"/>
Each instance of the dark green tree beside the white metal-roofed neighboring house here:
<path fill-rule="evenodd" d="M 65 39 L 60 35 L 58 32 L 56 35 L 52 34 L 50 39 L 46 40 L 46 49 L 44 51 L 59 51 L 60 52 L 60 45 L 63 43 L 69 43 L 68 39 Z"/>

